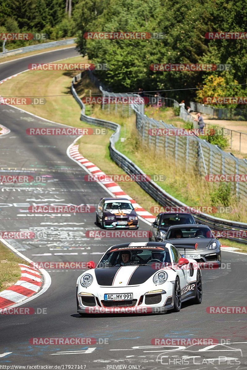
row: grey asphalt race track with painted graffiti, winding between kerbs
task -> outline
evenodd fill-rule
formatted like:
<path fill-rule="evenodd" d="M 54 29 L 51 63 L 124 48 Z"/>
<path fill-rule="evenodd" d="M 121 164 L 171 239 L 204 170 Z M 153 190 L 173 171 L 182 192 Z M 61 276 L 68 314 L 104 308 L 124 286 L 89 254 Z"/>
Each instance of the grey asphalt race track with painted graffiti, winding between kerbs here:
<path fill-rule="evenodd" d="M 76 50 L 68 48 L 41 54 L 39 61 L 47 63 L 74 55 L 77 55 Z M 32 56 L 0 64 L 0 80 L 26 70 L 27 64 L 36 61 L 37 57 Z M 84 181 L 86 172 L 67 157 L 67 147 L 76 137 L 26 135 L 27 128 L 54 127 L 54 124 L 6 105 L 0 105 L 0 123 L 11 130 L 10 134 L 0 138 L 0 173 L 46 176 L 44 183 L 0 186 L 0 230 L 35 231 L 40 236 L 29 240 L 9 239 L 14 248 L 34 261 L 98 262 L 110 245 L 130 241 L 86 238 L 87 230 L 98 229 L 94 223 L 95 213 L 53 216 L 29 213 L 28 207 L 36 204 L 97 205 L 108 193 L 97 182 Z M 148 229 L 146 223 L 140 222 L 140 230 Z M 193 306 L 188 301 L 179 313 L 162 315 L 95 314 L 81 317 L 77 314 L 75 289 L 81 270 L 48 270 L 51 276 L 49 289 L 21 306 L 35 310 L 44 308 L 46 314 L 0 315 L 0 364 L 10 366 L 10 369 L 12 365 L 61 364 L 80 365 L 81 369 L 86 365 L 87 370 L 246 369 L 246 315 L 206 312 L 208 306 L 247 305 L 247 256 L 222 252 L 222 261 L 229 263 L 230 268 L 202 271 L 201 305 Z M 37 346 L 29 343 L 33 337 L 106 340 L 103 344 L 90 346 Z M 153 338 L 164 337 L 216 338 L 219 342 L 228 339 L 231 344 L 185 348 L 151 344 Z M 5 353 L 9 354 L 1 356 Z M 183 362 L 183 356 L 187 356 L 188 363 Z"/>

